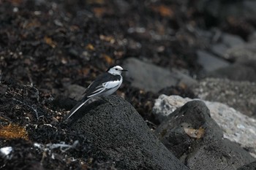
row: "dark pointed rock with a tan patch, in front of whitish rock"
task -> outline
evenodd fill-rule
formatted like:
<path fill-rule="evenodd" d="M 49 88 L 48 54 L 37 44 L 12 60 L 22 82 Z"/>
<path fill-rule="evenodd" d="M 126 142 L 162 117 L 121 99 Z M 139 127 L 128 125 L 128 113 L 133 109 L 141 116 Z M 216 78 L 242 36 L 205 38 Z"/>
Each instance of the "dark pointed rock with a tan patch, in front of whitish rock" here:
<path fill-rule="evenodd" d="M 255 160 L 234 142 L 223 139 L 203 101 L 189 101 L 167 117 L 155 133 L 190 169 L 237 169 Z"/>

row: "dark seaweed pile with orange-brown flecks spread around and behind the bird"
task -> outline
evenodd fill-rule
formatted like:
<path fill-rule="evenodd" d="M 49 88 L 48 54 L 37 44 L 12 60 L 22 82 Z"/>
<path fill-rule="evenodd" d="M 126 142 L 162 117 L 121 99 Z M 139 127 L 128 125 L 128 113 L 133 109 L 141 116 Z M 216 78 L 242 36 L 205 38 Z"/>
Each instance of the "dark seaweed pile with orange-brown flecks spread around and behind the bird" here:
<path fill-rule="evenodd" d="M 89 136 L 61 123 L 75 101 L 64 107 L 53 101 L 64 96 L 68 85 L 86 87 L 108 66 L 129 57 L 186 69 L 192 76 L 200 71 L 195 61 L 200 43 L 189 44 L 195 35 L 186 28 L 186 23 L 204 22 L 193 3 L 0 1 L 0 22 L 0 125 L 25 129 L 22 139 L 0 136 L 1 147 L 13 147 L 11 159 L 0 158 L 0 169 L 113 169 Z M 157 120 L 151 109 L 161 93 L 194 97 L 187 88 L 151 93 L 128 81 L 118 90 L 153 127 Z M 13 131 L 20 128 L 1 135 Z M 75 141 L 67 151 L 46 146 Z"/>

